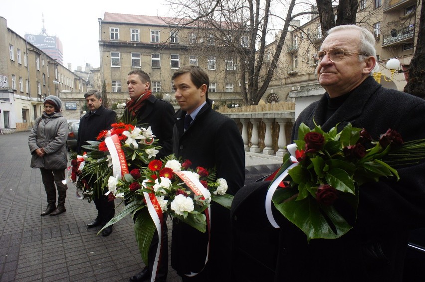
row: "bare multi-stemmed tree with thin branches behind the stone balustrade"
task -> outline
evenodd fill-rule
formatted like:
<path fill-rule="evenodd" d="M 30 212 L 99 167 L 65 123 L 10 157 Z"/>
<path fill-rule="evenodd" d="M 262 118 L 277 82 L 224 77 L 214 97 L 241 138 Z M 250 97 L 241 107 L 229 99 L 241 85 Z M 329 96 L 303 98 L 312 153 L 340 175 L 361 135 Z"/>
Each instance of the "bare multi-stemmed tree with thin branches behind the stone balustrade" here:
<path fill-rule="evenodd" d="M 180 23 L 197 32 L 194 49 L 202 54 L 221 52 L 238 60 L 239 83 L 244 105 L 257 105 L 273 78 L 284 40 L 295 17 L 308 12 L 292 14 L 296 0 L 284 5 L 286 16 L 273 14 L 271 0 L 169 0 L 179 10 Z M 282 14 L 282 13 L 279 13 Z M 265 63 L 266 39 L 274 36 L 273 20 L 283 26 L 275 38 L 275 49 L 270 63 Z M 232 62 L 233 63 L 233 62 Z M 226 62 L 227 64 L 227 62 Z M 228 66 L 226 65 L 226 68 Z M 262 75 L 263 74 L 263 75 Z"/>

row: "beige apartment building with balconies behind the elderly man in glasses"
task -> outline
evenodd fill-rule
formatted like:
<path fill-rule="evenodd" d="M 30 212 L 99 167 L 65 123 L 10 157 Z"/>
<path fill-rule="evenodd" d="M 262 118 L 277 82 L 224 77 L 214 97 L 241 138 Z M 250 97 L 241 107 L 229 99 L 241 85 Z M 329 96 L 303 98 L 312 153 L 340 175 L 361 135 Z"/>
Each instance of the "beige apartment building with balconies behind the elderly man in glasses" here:
<path fill-rule="evenodd" d="M 419 0 L 359 1 L 356 21 L 375 35 L 379 71 L 383 74 L 381 84 L 384 87 L 403 91 L 407 83 L 407 73 L 396 72 L 392 77 L 386 63 L 391 58 L 398 58 L 402 70 L 409 67 L 418 37 L 421 8 Z M 312 16 L 302 25 L 299 20 L 293 20 L 291 26 L 263 101 L 272 103 L 296 99 L 297 116 L 299 111 L 324 93 L 314 74 L 317 67 L 314 54 L 320 49 L 324 37 L 318 16 Z M 266 46 L 266 63 L 274 53 L 275 44 L 272 42 Z"/>

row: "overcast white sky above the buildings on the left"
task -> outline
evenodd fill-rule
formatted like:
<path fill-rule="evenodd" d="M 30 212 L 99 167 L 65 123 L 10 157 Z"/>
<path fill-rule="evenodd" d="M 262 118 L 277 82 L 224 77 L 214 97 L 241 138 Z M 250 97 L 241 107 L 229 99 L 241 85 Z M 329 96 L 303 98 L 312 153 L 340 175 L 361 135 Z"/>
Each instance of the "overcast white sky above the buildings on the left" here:
<path fill-rule="evenodd" d="M 11 0 L 1 1 L 0 16 L 7 27 L 24 37 L 25 33 L 39 34 L 43 27 L 48 35 L 59 37 L 63 45 L 63 65 L 83 69 L 86 63 L 99 67 L 99 23 L 105 11 L 124 14 L 169 14 L 164 0 Z M 148 7 L 149 6 L 149 7 Z"/>

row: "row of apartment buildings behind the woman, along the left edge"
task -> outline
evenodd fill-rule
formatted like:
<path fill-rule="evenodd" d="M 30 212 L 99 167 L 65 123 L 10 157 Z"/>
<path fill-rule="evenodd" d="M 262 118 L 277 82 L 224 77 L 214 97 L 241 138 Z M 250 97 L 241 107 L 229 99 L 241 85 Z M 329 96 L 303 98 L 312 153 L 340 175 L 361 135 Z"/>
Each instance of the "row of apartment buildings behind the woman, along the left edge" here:
<path fill-rule="evenodd" d="M 86 91 L 74 75 L 24 37 L 0 16 L 0 130 L 25 131 L 43 111 L 42 101 L 61 91 Z"/>

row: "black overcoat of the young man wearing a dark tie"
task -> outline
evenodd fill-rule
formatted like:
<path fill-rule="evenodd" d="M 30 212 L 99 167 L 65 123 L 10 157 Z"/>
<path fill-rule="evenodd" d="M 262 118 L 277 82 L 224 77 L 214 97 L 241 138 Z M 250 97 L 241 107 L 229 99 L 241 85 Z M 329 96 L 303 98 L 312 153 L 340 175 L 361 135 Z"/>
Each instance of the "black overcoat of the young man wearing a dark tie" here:
<path fill-rule="evenodd" d="M 186 132 L 183 129 L 185 115 L 185 111 L 178 111 L 175 115 L 177 121 L 173 130 L 173 152 L 183 159 L 189 159 L 192 168 L 216 167 L 216 176 L 227 181 L 227 193 L 236 193 L 243 186 L 245 178 L 245 152 L 236 123 L 214 111 L 209 99 Z M 174 222 L 172 266 L 179 275 L 201 271 L 206 258 L 207 235 L 207 232 L 203 234 L 182 222 Z M 211 266 L 207 268 L 212 271 L 205 270 L 205 278 L 201 281 L 229 281 L 230 235 L 229 210 L 213 203 L 208 263 Z"/>

